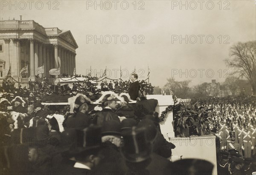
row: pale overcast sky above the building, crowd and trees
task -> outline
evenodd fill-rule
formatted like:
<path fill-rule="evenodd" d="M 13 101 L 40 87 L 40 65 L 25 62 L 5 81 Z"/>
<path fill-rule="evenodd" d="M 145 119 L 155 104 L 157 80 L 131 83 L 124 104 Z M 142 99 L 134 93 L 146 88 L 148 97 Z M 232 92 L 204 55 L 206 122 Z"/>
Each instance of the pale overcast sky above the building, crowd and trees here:
<path fill-rule="evenodd" d="M 149 66 L 154 86 L 162 87 L 172 76 L 190 79 L 191 85 L 212 79 L 221 82 L 228 76 L 224 59 L 230 47 L 256 40 L 255 0 L 183 0 L 183 6 L 181 1 L 168 0 L 96 1 L 102 9 L 94 0 L 33 1 L 31 7 L 28 1 L 12 2 L 14 6 L 1 1 L 1 20 L 18 20 L 22 15 L 23 20 L 72 32 L 79 46 L 76 69 L 81 75 L 90 66 L 97 72 L 105 66 L 131 72 L 136 66 L 142 80 Z M 102 43 L 94 40 L 101 35 Z M 116 73 L 112 71 L 111 78 L 119 78 L 120 72 Z"/>

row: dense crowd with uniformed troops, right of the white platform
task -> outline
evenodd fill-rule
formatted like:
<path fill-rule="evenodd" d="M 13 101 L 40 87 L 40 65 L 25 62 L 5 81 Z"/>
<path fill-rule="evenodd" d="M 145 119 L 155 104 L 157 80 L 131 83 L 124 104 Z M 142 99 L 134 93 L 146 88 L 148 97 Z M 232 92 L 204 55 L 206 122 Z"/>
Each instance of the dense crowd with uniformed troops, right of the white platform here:
<path fill-rule="evenodd" d="M 199 100 L 198 107 L 212 111 L 218 175 L 252 175 L 256 171 L 255 96 Z"/>

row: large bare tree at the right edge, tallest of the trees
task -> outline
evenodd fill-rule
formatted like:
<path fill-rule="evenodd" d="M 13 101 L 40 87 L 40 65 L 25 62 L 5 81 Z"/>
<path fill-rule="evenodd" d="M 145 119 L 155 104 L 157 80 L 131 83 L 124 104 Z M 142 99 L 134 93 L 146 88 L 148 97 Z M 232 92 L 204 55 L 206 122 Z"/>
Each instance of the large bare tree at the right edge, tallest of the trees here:
<path fill-rule="evenodd" d="M 230 56 L 226 64 L 235 69 L 234 73 L 249 80 L 253 95 L 256 95 L 256 41 L 233 45 L 230 48 Z"/>

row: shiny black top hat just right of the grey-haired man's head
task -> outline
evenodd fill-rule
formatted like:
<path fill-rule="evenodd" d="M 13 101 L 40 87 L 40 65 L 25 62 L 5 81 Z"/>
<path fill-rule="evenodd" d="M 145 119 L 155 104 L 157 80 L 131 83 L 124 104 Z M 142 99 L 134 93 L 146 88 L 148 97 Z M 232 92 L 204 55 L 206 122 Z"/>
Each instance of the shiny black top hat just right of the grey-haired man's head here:
<path fill-rule="evenodd" d="M 123 139 L 121 153 L 126 161 L 138 163 L 150 158 L 151 146 L 146 141 L 144 129 L 133 127 L 123 132 Z"/>

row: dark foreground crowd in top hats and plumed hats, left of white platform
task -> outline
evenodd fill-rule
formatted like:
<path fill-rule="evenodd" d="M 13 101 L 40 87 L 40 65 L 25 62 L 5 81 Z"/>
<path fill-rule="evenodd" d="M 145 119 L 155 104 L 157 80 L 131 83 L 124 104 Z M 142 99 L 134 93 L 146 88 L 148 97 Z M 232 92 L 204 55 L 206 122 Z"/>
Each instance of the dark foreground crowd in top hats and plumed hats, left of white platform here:
<path fill-rule="evenodd" d="M 1 89 L 0 170 L 3 174 L 162 175 L 211 173 L 213 164 L 198 159 L 171 162 L 175 145 L 161 134 L 158 101 L 145 93 L 104 92 L 67 95 L 68 105 L 52 111 L 42 98 L 53 88 L 37 91 Z M 68 88 L 61 88 L 64 94 Z M 69 89 L 70 90 L 70 89 Z M 59 95 L 58 95 L 59 96 Z M 97 105 L 96 105 L 97 104 Z"/>

